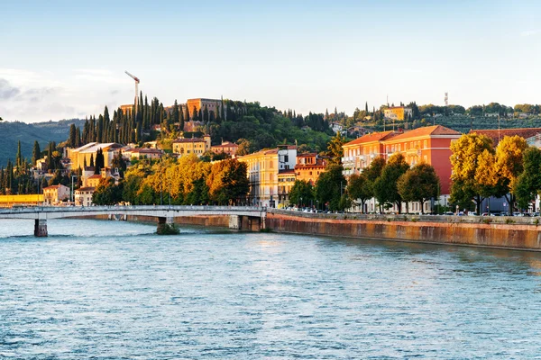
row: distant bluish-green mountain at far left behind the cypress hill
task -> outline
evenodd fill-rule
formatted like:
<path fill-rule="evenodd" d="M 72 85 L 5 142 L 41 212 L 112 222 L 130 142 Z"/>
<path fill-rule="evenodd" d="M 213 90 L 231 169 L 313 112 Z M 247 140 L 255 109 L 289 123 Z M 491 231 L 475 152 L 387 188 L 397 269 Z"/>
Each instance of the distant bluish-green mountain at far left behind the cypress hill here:
<path fill-rule="evenodd" d="M 0 166 L 5 167 L 8 159 L 14 161 L 19 140 L 23 157 L 30 160 L 34 140 L 38 140 L 41 150 L 47 147 L 49 141 L 57 143 L 65 141 L 69 137 L 69 125 L 72 123 L 82 128 L 85 121 L 80 119 L 35 123 L 0 121 Z"/>

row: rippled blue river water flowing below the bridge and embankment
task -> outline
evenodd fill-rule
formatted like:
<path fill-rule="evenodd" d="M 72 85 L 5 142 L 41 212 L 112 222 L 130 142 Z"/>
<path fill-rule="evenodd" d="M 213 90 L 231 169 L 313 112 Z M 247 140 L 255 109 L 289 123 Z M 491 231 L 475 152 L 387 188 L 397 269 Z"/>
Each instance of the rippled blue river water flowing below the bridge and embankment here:
<path fill-rule="evenodd" d="M 0 220 L 0 358 L 534 358 L 541 254 Z"/>

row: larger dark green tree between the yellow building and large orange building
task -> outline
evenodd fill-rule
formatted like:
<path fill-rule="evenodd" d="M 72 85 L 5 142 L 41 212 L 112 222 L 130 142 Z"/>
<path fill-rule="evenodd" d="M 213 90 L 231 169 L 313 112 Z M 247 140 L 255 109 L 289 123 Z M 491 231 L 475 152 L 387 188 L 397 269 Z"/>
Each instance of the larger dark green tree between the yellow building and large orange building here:
<path fill-rule="evenodd" d="M 341 202 L 344 195 L 343 186 L 346 181 L 342 171 L 344 167 L 339 164 L 331 164 L 326 166 L 326 171 L 323 172 L 316 181 L 315 195 L 316 201 L 322 205 L 328 206 L 331 211 L 344 210 L 344 202 Z"/>

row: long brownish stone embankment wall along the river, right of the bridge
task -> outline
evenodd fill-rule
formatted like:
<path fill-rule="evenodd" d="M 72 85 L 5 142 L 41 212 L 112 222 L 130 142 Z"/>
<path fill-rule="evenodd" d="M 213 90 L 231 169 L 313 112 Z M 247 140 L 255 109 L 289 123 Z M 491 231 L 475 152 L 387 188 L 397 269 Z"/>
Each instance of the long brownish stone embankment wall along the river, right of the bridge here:
<path fill-rule="evenodd" d="M 541 251 L 538 222 L 533 218 L 313 214 L 271 210 L 267 212 L 266 226 L 276 232 L 297 234 Z"/>

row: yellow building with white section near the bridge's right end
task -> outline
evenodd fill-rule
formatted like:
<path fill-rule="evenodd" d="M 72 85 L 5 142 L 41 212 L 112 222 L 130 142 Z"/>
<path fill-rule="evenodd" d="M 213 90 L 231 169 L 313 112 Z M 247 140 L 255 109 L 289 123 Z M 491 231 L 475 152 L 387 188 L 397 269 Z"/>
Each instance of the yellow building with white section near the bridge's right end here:
<path fill-rule="evenodd" d="M 283 182 L 279 181 L 279 174 L 295 168 L 297 147 L 285 145 L 237 158 L 246 163 L 248 167 L 250 181 L 248 197 L 251 205 L 277 207 L 280 206 L 280 203 L 289 202 L 289 193 L 286 191 L 289 191 L 290 179 L 295 177 L 295 173 L 282 177 L 287 180 Z M 293 180 L 294 182 L 295 180 Z M 282 186 L 281 193 L 279 192 L 279 184 Z"/>

